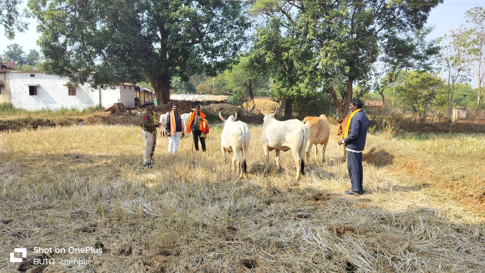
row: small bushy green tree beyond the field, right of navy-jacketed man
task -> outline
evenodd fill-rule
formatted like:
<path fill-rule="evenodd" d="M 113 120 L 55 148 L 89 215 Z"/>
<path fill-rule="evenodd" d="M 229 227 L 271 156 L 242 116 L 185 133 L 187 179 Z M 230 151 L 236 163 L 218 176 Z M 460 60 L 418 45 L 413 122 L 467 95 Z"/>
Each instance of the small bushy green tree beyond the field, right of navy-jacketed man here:
<path fill-rule="evenodd" d="M 438 93 L 443 79 L 425 72 L 407 72 L 404 85 L 398 86 L 396 92 L 401 96 L 403 103 L 413 107 L 418 113 L 420 121 L 426 117 L 426 110 Z"/>

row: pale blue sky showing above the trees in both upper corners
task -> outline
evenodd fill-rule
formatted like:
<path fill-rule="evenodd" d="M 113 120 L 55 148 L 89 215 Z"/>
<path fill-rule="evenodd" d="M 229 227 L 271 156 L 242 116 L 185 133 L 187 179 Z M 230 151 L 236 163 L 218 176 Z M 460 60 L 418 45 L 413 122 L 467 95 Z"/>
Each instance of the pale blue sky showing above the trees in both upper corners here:
<path fill-rule="evenodd" d="M 461 24 L 466 24 L 464 18 L 465 12 L 476 6 L 485 7 L 485 0 L 444 0 L 443 4 L 438 5 L 431 11 L 427 24 L 434 25 L 435 29 L 428 37 L 441 37 L 443 34 L 448 34 L 450 30 L 457 29 Z M 22 9 L 25 7 L 26 5 L 24 3 Z M 0 54 L 7 49 L 7 45 L 14 43 L 21 45 L 23 51 L 26 53 L 30 49 L 39 51 L 39 46 L 35 43 L 39 37 L 39 33 L 35 31 L 35 20 L 29 19 L 28 22 L 30 23 L 29 30 L 24 33 L 17 33 L 13 41 L 4 37 L 1 39 Z M 2 27 L 0 28 L 0 34 L 3 35 Z"/>

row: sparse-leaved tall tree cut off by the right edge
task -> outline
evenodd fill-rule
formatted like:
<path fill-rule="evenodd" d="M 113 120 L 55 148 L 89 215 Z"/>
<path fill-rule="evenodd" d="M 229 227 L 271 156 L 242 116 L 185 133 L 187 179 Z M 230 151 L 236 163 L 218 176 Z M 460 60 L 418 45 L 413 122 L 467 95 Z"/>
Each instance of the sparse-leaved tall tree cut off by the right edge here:
<path fill-rule="evenodd" d="M 482 83 L 485 78 L 485 8 L 474 7 L 469 9 L 465 17 L 467 23 L 473 27 L 467 31 L 468 36 L 462 36 L 469 59 L 472 61 L 472 73 L 477 76 L 477 111 L 480 109 L 480 97 L 482 93 Z"/>

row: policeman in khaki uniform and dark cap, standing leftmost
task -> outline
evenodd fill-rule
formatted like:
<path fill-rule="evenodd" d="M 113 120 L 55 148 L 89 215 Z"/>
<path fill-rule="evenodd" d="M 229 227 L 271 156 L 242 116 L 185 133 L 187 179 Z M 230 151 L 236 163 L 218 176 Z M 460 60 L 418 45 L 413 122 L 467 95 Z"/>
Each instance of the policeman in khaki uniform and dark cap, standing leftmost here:
<path fill-rule="evenodd" d="M 142 112 L 142 137 L 145 143 L 143 167 L 147 168 L 151 168 L 153 164 L 153 153 L 155 152 L 155 145 L 157 145 L 157 127 L 161 125 L 155 119 L 153 108 L 155 108 L 153 102 L 145 102 L 145 110 Z"/>

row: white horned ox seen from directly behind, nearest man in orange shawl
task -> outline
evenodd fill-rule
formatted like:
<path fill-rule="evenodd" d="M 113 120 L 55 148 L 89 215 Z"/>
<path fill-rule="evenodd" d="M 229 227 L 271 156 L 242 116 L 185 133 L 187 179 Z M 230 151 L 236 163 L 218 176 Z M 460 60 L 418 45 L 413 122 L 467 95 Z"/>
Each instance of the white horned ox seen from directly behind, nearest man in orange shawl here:
<path fill-rule="evenodd" d="M 224 129 L 221 134 L 221 150 L 224 162 L 226 162 L 226 152 L 233 152 L 232 171 L 234 171 L 234 165 L 236 165 L 237 173 L 239 173 L 239 168 L 241 167 L 241 175 L 242 172 L 246 174 L 246 155 L 251 138 L 249 127 L 242 121 L 236 121 L 238 118 L 237 113 L 236 116 L 231 115 L 225 120 L 221 115 L 221 111 L 219 111 L 219 117 L 224 122 Z"/>

